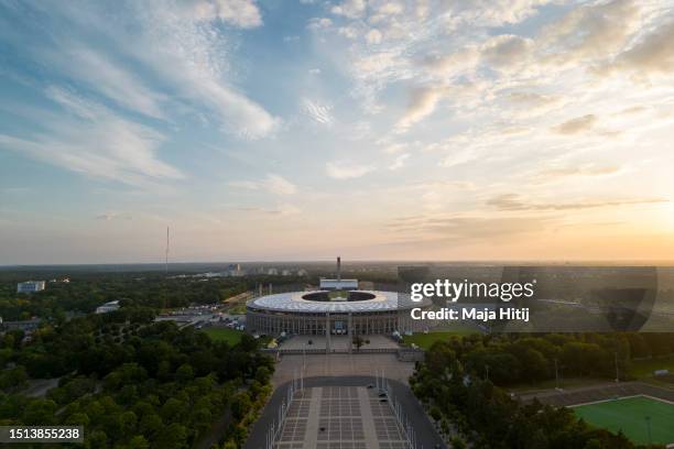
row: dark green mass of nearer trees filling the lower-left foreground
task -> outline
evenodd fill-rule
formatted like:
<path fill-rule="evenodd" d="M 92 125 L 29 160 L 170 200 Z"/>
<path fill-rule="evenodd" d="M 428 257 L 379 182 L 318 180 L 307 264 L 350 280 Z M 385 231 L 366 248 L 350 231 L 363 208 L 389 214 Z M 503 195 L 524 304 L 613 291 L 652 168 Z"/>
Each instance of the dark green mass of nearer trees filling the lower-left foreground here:
<path fill-rule="evenodd" d="M 0 425 L 81 425 L 86 448 L 178 449 L 222 421 L 221 447 L 240 447 L 271 392 L 273 361 L 250 336 L 231 347 L 148 318 L 142 308 L 90 315 L 43 326 L 23 344 L 7 333 Z M 59 381 L 28 397 L 29 377 Z"/>

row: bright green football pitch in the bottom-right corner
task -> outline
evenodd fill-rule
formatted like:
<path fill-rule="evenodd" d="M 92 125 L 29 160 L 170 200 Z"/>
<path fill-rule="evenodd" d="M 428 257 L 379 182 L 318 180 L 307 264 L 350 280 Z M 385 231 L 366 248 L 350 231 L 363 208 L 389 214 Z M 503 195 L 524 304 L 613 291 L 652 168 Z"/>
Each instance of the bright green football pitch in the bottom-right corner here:
<path fill-rule="evenodd" d="M 596 427 L 622 432 L 634 442 L 674 442 L 674 404 L 645 396 L 627 397 L 572 407 L 576 415 Z M 648 419 L 646 417 L 650 417 Z"/>

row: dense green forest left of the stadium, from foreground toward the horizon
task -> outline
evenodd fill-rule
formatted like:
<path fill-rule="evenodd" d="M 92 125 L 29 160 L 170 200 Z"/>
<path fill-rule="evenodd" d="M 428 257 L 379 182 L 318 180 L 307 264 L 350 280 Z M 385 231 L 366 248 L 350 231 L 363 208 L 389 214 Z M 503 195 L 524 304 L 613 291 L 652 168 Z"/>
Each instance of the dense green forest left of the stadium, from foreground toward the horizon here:
<path fill-rule="evenodd" d="M 153 319 L 164 304 L 214 303 L 248 287 L 115 274 L 18 295 L 3 283 L 4 319 L 43 321 L 30 336 L 0 337 L 0 425 L 83 425 L 87 448 L 177 449 L 214 438 L 240 447 L 271 392 L 273 361 L 250 336 L 232 347 Z M 120 310 L 87 314 L 113 299 Z M 26 395 L 41 379 L 58 379 L 57 386 Z"/>

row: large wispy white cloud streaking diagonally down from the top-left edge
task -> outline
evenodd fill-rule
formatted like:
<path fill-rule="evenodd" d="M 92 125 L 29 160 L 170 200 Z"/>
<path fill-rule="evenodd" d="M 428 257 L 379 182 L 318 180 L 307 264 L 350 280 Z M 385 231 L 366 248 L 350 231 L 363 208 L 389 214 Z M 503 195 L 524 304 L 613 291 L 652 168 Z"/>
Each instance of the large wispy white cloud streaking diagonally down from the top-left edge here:
<path fill-rule="evenodd" d="M 35 7 L 67 24 L 67 31 L 51 30 L 53 42 L 35 50 L 54 62 L 48 68 L 86 83 L 124 108 L 157 118 L 194 111 L 243 139 L 269 135 L 280 125 L 279 118 L 235 85 L 237 37 L 221 26 L 259 26 L 253 1 L 128 2 L 115 11 L 96 3 Z"/>

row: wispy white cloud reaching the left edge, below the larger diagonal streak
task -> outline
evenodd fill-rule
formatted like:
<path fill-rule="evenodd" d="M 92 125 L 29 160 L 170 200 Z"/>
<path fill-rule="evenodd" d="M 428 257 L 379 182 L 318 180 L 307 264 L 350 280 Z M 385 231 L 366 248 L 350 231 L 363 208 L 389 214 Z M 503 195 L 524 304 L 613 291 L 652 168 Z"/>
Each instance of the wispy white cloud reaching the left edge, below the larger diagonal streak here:
<path fill-rule="evenodd" d="M 87 176 L 134 186 L 184 178 L 181 171 L 156 156 L 163 134 L 70 91 L 51 87 L 47 96 L 67 114 L 51 118 L 44 123 L 47 132 L 33 133 L 31 139 L 0 134 L 0 146 Z"/>

